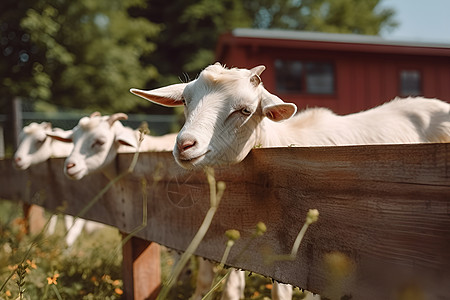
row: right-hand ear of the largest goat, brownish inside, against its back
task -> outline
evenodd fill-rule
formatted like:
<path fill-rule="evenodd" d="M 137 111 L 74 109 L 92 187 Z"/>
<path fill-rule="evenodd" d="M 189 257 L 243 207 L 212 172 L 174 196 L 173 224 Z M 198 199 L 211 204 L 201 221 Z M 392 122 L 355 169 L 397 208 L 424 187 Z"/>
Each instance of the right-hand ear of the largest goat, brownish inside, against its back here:
<path fill-rule="evenodd" d="M 263 115 L 275 122 L 287 120 L 297 112 L 297 106 L 295 104 L 285 103 L 266 90 L 262 93 L 261 107 Z"/>

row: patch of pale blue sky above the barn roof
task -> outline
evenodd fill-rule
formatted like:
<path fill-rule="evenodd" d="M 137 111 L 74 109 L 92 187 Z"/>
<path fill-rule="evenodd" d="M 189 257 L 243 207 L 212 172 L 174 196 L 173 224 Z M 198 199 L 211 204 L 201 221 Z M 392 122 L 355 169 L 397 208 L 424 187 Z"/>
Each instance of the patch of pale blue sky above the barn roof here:
<path fill-rule="evenodd" d="M 386 39 L 450 44 L 450 0 L 383 0 L 395 9 L 399 26 Z"/>

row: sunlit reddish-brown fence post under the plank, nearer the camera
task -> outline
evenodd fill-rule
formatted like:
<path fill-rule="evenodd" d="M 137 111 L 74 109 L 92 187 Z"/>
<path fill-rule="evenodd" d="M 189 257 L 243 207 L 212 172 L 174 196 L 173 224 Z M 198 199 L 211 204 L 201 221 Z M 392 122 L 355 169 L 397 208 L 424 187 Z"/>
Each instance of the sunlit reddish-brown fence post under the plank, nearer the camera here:
<path fill-rule="evenodd" d="M 132 237 L 123 245 L 122 255 L 124 299 L 156 299 L 161 286 L 160 246 Z"/>

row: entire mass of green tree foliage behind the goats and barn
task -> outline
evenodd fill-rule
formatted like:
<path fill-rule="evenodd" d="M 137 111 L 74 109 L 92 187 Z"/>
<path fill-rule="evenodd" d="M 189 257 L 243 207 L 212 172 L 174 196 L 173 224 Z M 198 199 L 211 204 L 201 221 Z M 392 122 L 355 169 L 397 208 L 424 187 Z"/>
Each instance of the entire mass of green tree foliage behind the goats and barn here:
<path fill-rule="evenodd" d="M 145 105 L 130 87 L 196 76 L 233 28 L 378 34 L 393 14 L 380 0 L 3 0 L 0 108 L 18 96 L 130 111 Z"/>

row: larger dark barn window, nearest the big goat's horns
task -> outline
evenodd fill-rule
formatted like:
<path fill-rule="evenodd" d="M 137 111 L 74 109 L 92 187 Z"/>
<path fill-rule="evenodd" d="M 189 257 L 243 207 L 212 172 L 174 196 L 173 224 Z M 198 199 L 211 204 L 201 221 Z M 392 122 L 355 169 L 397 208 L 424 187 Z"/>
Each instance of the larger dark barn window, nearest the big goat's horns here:
<path fill-rule="evenodd" d="M 334 66 L 329 62 L 277 59 L 275 80 L 279 92 L 334 94 Z"/>

